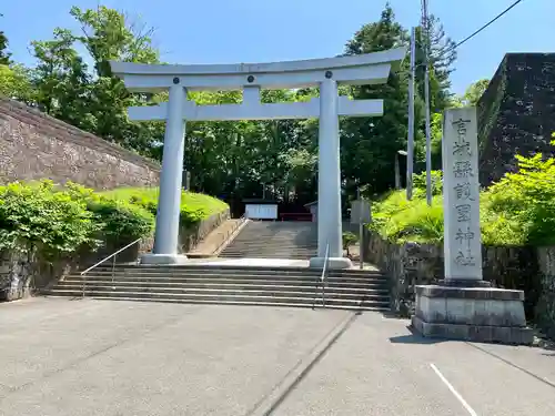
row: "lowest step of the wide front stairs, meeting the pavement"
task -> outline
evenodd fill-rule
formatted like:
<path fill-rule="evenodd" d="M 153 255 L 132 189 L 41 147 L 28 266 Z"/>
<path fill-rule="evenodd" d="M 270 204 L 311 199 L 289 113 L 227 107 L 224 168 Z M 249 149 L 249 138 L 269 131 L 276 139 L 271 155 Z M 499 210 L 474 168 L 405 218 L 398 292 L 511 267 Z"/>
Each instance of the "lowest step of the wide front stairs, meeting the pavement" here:
<path fill-rule="evenodd" d="M 46 293 L 51 296 L 71 296 L 80 297 L 82 292 L 79 290 L 51 290 Z M 183 303 L 195 303 L 195 302 L 212 302 L 212 303 L 225 303 L 225 302 L 250 302 L 254 304 L 295 304 L 295 305 L 307 305 L 311 306 L 314 301 L 321 303 L 321 294 L 317 296 L 311 296 L 305 293 L 301 296 L 275 296 L 274 294 L 261 294 L 261 295 L 248 295 L 241 293 L 218 293 L 218 294 L 196 294 L 196 293 L 168 293 L 168 292 L 137 292 L 137 291 L 100 291 L 100 290 L 87 290 L 85 297 L 125 297 L 125 298 L 143 298 L 143 300 L 172 300 L 181 301 Z M 369 300 L 366 301 L 364 296 L 359 298 L 325 298 L 325 304 L 327 306 L 350 306 L 359 307 L 361 305 L 366 305 L 370 307 L 387 307 L 389 300 Z"/>

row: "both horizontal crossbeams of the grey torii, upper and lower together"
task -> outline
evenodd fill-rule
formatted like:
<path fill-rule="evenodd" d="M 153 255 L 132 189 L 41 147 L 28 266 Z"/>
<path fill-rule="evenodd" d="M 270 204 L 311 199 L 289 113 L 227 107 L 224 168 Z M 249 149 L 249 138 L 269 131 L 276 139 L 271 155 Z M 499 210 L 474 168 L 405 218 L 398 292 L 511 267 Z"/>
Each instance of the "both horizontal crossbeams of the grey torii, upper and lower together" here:
<path fill-rule="evenodd" d="M 111 62 L 112 72 L 133 92 L 168 91 L 179 85 L 188 91 L 243 90 L 243 103 L 196 105 L 183 103 L 182 116 L 189 121 L 275 120 L 320 116 L 320 99 L 309 102 L 260 102 L 260 89 L 320 87 L 324 80 L 336 84 L 385 83 L 392 69 L 405 55 L 404 48 L 382 52 L 303 61 L 211 65 L 143 64 Z M 349 100 L 340 97 L 337 115 L 376 116 L 383 114 L 382 100 Z M 135 121 L 165 120 L 168 103 L 129 108 Z"/>

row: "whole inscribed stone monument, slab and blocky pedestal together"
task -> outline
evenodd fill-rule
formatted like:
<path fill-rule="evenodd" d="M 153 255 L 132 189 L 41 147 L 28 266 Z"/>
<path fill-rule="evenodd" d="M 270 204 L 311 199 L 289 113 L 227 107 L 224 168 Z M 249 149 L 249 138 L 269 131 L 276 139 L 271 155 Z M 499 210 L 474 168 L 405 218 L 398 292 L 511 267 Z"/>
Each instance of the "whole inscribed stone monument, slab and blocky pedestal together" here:
<path fill-rule="evenodd" d="M 491 287 L 482 276 L 476 109 L 443 118 L 445 278 L 416 286 L 413 327 L 424 336 L 531 344 L 524 292 Z"/>

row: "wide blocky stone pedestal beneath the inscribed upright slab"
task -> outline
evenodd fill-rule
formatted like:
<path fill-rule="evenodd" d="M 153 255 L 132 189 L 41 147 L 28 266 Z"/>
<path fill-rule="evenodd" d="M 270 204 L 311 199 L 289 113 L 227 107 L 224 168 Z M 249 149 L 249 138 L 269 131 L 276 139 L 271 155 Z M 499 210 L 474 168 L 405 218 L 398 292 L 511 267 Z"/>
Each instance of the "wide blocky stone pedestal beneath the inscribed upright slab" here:
<path fill-rule="evenodd" d="M 493 287 L 416 286 L 413 327 L 424 336 L 532 344 L 524 292 Z"/>

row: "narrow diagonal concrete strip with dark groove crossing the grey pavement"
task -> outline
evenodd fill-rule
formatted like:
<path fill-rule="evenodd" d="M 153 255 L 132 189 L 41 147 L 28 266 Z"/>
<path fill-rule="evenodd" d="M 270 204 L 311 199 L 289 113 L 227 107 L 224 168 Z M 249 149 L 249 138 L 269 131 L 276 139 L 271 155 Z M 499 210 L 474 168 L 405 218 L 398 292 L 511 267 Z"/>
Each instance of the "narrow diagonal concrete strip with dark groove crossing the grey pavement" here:
<path fill-rule="evenodd" d="M 245 416 L 269 416 L 289 396 L 296 385 L 309 374 L 312 367 L 335 344 L 339 337 L 351 326 L 360 313 L 347 313 L 327 335 L 285 375 L 285 377 L 264 396 Z"/>

